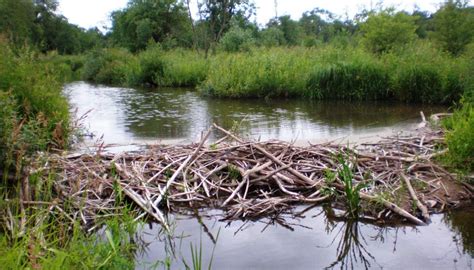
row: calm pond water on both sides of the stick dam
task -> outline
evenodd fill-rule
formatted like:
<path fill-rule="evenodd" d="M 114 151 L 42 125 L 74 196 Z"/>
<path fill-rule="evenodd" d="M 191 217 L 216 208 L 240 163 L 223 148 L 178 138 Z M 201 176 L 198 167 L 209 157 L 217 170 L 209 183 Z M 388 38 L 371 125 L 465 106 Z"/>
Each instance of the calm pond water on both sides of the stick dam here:
<path fill-rule="evenodd" d="M 77 82 L 65 93 L 78 115 L 92 110 L 85 127 L 106 143 L 186 143 L 196 141 L 212 123 L 239 124 L 242 135 L 261 139 L 373 139 L 412 129 L 419 111 L 442 107 L 387 103 L 310 102 L 305 100 L 213 100 L 183 89 L 140 90 Z M 214 134 L 214 138 L 219 134 Z M 302 210 L 299 207 L 297 210 Z M 169 258 L 172 269 L 191 262 L 191 248 L 202 248 L 207 269 L 472 269 L 474 208 L 433 216 L 427 227 L 378 227 L 329 218 L 321 207 L 289 218 L 291 228 L 270 220 L 226 223 L 217 211 L 173 215 L 174 237 L 145 225 L 137 243 L 137 268 Z M 270 222 L 270 224 L 268 224 Z"/>

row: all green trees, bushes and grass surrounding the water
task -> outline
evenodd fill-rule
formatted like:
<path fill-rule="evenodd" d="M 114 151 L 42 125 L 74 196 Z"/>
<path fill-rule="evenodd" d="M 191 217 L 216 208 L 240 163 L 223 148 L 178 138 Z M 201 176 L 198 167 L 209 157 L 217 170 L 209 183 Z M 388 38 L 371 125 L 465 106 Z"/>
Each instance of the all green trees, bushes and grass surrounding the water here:
<path fill-rule="evenodd" d="M 225 98 L 446 104 L 456 111 L 445 122 L 449 151 L 442 160 L 463 173 L 474 169 L 474 8 L 468 1 L 447 0 L 432 14 L 363 10 L 353 19 L 315 8 L 299 20 L 279 16 L 258 26 L 249 0 L 199 0 L 199 19 L 191 17 L 190 1 L 130 0 L 112 14 L 105 34 L 70 24 L 57 7 L 57 0 L 0 0 L 0 216 L 14 221 L 0 227 L 6 269 L 134 267 L 136 223 L 128 210 L 103 221 L 104 235 L 97 237 L 66 223 L 66 215 L 18 203 L 24 165 L 38 152 L 67 147 L 71 121 L 61 89 L 79 78 L 196 87 Z M 340 163 L 338 176 L 356 216 L 362 186 L 352 185 L 349 164 Z M 30 199 L 52 203 L 55 172 L 42 173 L 42 180 L 26 181 L 34 187 Z M 200 268 L 196 247 L 192 261 Z"/>

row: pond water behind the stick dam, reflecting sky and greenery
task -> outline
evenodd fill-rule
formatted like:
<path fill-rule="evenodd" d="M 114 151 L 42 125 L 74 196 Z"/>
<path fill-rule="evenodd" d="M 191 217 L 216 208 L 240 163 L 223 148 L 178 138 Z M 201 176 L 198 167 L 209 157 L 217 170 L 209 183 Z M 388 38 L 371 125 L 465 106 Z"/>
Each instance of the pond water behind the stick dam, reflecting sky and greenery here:
<path fill-rule="evenodd" d="M 93 109 L 86 126 L 107 143 L 195 141 L 212 123 L 261 139 L 302 142 L 403 129 L 442 107 L 307 100 L 207 99 L 184 89 L 129 89 L 84 82 L 66 86 L 79 114 Z M 215 136 L 219 136 L 216 134 Z"/>

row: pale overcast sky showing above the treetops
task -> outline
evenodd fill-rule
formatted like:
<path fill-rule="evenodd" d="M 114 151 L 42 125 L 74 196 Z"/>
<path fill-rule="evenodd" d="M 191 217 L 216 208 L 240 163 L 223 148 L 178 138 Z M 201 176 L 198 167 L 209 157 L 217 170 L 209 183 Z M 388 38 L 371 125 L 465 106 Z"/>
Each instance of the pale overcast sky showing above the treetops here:
<path fill-rule="evenodd" d="M 197 10 L 192 1 L 194 12 Z M 385 0 L 384 6 L 395 6 L 407 11 L 417 5 L 422 10 L 435 11 L 442 0 Z M 70 23 L 84 28 L 110 26 L 109 15 L 112 11 L 126 7 L 128 0 L 59 0 L 59 12 L 66 16 Z M 257 22 L 264 25 L 275 16 L 274 0 L 254 0 L 257 7 Z M 290 15 L 299 19 L 305 11 L 319 7 L 338 15 L 348 14 L 353 17 L 364 7 L 369 8 L 377 1 L 371 0 L 277 0 L 278 16 Z M 472 1 L 471 1 L 472 3 Z"/>

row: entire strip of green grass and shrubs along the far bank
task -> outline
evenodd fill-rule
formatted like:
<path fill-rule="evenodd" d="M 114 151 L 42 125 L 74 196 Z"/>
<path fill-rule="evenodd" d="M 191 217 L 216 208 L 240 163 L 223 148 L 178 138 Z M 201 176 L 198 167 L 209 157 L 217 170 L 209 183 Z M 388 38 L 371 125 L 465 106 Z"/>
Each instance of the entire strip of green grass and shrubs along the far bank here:
<path fill-rule="evenodd" d="M 152 47 L 133 55 L 103 49 L 86 58 L 83 78 L 122 86 L 197 87 L 213 97 L 394 100 L 453 104 L 465 92 L 469 57 L 419 41 L 382 55 L 361 47 L 321 45 L 218 52 Z"/>

